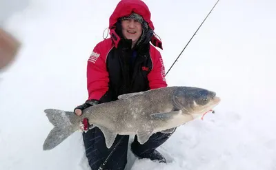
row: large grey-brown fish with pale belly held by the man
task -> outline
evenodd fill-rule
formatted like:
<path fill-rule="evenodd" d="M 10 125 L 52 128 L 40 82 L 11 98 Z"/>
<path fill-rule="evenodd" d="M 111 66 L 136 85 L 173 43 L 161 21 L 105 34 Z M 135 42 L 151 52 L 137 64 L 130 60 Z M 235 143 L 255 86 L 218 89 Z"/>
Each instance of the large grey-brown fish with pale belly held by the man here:
<path fill-rule="evenodd" d="M 198 118 L 220 101 L 215 92 L 197 87 L 162 87 L 118 98 L 88 107 L 81 116 L 70 111 L 46 109 L 46 116 L 55 127 L 48 134 L 43 150 L 53 149 L 79 130 L 83 118 L 101 129 L 108 148 L 117 134 L 137 135 L 138 141 L 144 144 L 152 134 L 166 133 Z"/>

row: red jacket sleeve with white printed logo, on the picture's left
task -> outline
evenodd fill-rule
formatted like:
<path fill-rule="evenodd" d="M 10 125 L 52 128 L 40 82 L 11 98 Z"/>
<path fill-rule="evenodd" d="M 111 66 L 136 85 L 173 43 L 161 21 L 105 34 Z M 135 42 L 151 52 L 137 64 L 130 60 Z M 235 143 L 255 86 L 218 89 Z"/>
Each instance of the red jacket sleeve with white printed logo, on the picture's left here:
<path fill-rule="evenodd" d="M 97 44 L 87 63 L 88 100 L 99 100 L 108 91 L 108 72 L 106 70 L 106 54 Z"/>

